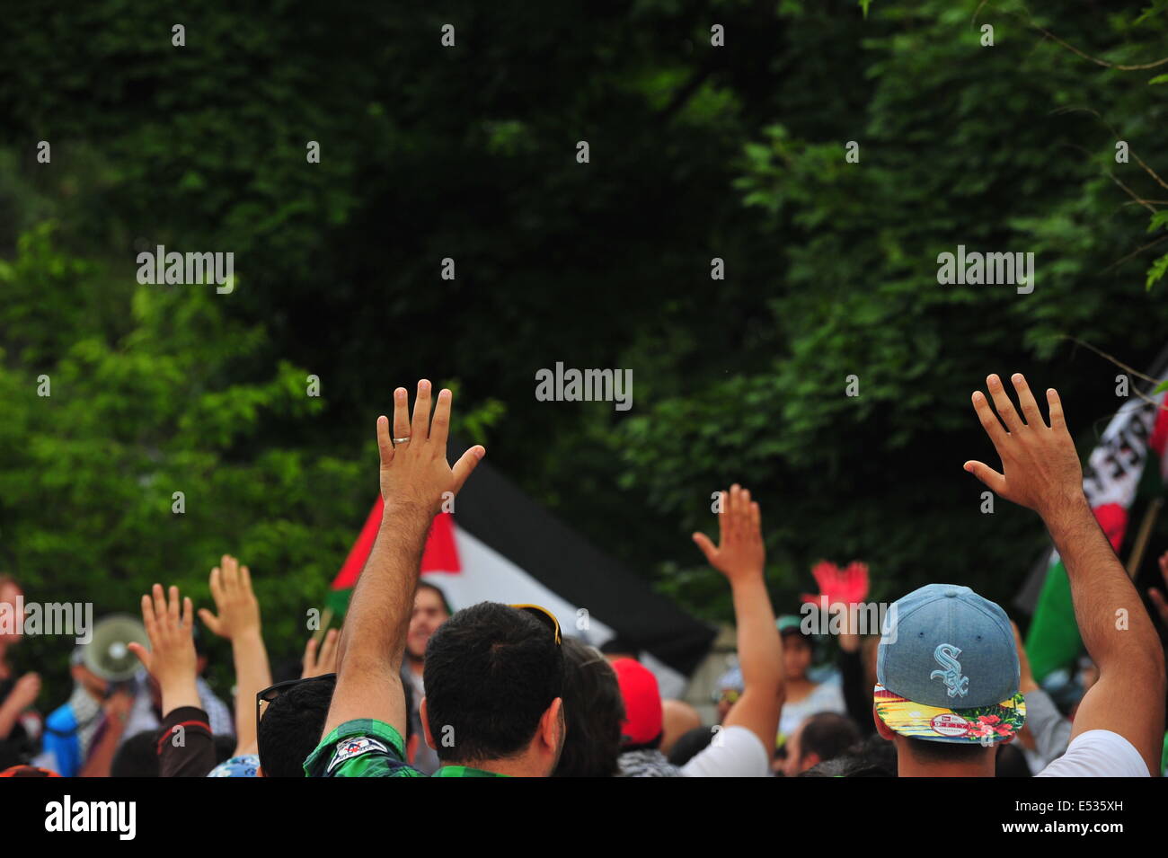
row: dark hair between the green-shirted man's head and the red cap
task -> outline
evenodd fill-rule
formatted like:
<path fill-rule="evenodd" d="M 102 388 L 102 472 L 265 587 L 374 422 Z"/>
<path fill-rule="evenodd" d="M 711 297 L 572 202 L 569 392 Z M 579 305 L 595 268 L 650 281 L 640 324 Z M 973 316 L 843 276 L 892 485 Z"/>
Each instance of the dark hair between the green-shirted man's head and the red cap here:
<path fill-rule="evenodd" d="M 612 777 L 618 772 L 625 703 L 609 660 L 564 639 L 564 718 L 568 734 L 552 777 Z"/>

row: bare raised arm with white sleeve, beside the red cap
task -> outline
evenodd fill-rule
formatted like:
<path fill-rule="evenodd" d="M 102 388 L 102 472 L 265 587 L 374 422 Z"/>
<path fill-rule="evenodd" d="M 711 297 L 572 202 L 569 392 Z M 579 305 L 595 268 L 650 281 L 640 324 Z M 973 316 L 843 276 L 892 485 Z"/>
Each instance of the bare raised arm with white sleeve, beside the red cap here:
<path fill-rule="evenodd" d="M 783 643 L 763 577 L 766 552 L 758 503 L 750 500 L 750 491 L 735 484 L 722 493 L 718 531 L 717 547 L 704 533 L 694 533 L 694 542 L 710 565 L 730 581 L 734 595 L 744 689 L 723 725 L 746 727 L 770 754 L 774 751 L 785 693 Z"/>

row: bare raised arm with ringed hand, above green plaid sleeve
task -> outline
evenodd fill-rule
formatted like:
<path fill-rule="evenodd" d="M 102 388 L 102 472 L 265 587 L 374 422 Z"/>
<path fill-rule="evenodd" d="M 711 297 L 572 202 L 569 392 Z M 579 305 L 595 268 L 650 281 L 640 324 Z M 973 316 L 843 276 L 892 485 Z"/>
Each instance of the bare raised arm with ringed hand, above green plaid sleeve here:
<path fill-rule="evenodd" d="M 401 667 L 413 609 L 426 531 L 443 495 L 457 494 L 486 454 L 466 451 L 454 467 L 446 462 L 451 392 L 438 393 L 430 421 L 430 382 L 418 382 L 413 421 L 404 388 L 394 391 L 394 433 L 377 418 L 381 451 L 381 529 L 353 591 L 336 656 L 336 690 L 322 735 L 355 718 L 384 721 L 405 735 L 405 693 Z M 394 444 L 394 438 L 409 438 Z"/>

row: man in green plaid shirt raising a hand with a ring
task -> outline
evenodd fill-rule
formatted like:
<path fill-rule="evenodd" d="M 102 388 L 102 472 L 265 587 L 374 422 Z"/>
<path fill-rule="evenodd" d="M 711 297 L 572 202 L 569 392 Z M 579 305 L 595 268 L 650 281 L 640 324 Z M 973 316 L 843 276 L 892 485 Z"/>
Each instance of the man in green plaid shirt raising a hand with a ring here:
<path fill-rule="evenodd" d="M 401 676 L 422 549 L 443 501 L 486 454 L 471 447 L 451 468 L 451 392 L 438 395 L 432 424 L 430 393 L 430 382 L 418 382 L 412 424 L 404 388 L 394 391 L 392 432 L 389 420 L 377 419 L 384 512 L 341 632 L 325 735 L 304 763 L 311 776 L 422 774 L 405 762 Z M 420 712 L 427 741 L 449 763 L 436 774 L 543 776 L 555 768 L 564 738 L 559 626 L 547 612 L 522 607 L 478 605 L 431 637 L 424 678 L 432 699 L 422 702 Z M 465 663 L 481 674 L 467 676 Z M 463 682 L 503 711 L 484 709 Z"/>

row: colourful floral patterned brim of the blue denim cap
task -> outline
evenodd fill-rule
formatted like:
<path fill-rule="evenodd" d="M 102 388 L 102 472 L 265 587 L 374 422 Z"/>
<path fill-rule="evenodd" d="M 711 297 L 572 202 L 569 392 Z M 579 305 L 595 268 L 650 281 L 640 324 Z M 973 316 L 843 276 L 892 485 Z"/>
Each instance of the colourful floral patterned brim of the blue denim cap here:
<path fill-rule="evenodd" d="M 940 709 L 908 700 L 877 684 L 872 692 L 876 713 L 901 735 L 926 741 L 996 745 L 1026 724 L 1026 699 L 1014 695 L 993 706 Z"/>

